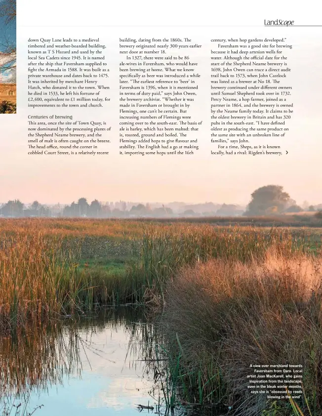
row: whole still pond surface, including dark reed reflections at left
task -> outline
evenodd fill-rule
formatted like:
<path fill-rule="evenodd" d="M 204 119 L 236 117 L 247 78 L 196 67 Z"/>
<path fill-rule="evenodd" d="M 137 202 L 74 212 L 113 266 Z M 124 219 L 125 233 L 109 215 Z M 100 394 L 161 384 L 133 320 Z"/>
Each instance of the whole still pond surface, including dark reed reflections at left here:
<path fill-rule="evenodd" d="M 162 415 L 155 343 L 153 326 L 128 307 L 2 336 L 0 415 Z"/>

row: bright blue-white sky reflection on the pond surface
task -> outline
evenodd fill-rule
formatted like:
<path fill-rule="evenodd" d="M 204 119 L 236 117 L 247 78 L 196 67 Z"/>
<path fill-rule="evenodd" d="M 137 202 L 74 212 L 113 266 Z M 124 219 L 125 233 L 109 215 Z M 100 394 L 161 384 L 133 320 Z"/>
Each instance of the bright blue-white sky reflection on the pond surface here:
<path fill-rule="evenodd" d="M 115 323 L 109 318 L 104 324 L 100 320 L 98 327 L 93 322 L 89 328 L 80 327 L 76 330 L 78 366 L 73 373 L 63 374 L 62 384 L 48 383 L 45 385 L 46 391 L 43 383 L 40 391 L 37 391 L 36 386 L 32 389 L 28 411 L 43 405 L 35 412 L 35 416 L 130 416 L 139 414 L 137 405 L 155 407 L 157 402 L 149 394 L 155 385 L 153 374 L 151 377 L 147 374 L 146 362 L 142 360 L 142 349 L 139 346 L 146 324 L 136 321 L 133 330 L 128 320 L 123 322 L 118 319 Z M 70 333 L 70 328 L 64 328 L 60 338 L 67 345 Z M 133 342 L 136 337 L 131 336 L 131 333 L 136 333 L 137 344 Z M 60 344 L 61 341 L 58 340 L 57 345 Z M 41 345 L 39 348 L 40 351 L 45 350 Z M 64 354 L 67 359 L 68 350 Z M 75 355 L 75 351 L 71 354 Z M 15 403 L 20 401 L 16 400 Z M 155 411 L 156 408 L 153 411 L 144 409 L 141 415 L 153 414 Z"/>

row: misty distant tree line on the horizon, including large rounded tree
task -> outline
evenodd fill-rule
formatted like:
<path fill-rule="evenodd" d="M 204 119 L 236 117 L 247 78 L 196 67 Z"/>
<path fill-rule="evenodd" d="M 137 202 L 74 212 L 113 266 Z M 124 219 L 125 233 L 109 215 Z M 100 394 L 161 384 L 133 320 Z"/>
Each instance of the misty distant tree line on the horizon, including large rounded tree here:
<path fill-rule="evenodd" d="M 178 203 L 172 203 L 175 206 Z M 171 204 L 170 204 L 171 205 Z M 266 185 L 256 189 L 251 194 L 251 200 L 246 210 L 234 204 L 215 205 L 212 203 L 185 205 L 180 208 L 176 205 L 175 212 L 170 207 L 161 204 L 153 208 L 150 204 L 133 204 L 119 201 L 116 203 L 99 202 L 94 199 L 88 203 L 86 198 L 80 198 L 70 205 L 55 206 L 42 205 L 38 201 L 25 206 L 19 199 L 10 200 L 0 205 L 2 217 L 88 217 L 88 218 L 131 218 L 131 217 L 194 217 L 194 216 L 272 216 L 280 214 L 296 214 L 303 211 L 316 211 L 317 217 L 322 217 L 322 205 L 313 206 L 304 202 L 305 207 L 300 207 L 296 201 L 280 185 Z M 186 207 L 186 208 L 185 208 Z M 195 208 L 196 207 L 196 208 Z M 212 211 L 201 211 L 203 207 L 215 208 Z M 195 208 L 196 211 L 193 209 Z"/>

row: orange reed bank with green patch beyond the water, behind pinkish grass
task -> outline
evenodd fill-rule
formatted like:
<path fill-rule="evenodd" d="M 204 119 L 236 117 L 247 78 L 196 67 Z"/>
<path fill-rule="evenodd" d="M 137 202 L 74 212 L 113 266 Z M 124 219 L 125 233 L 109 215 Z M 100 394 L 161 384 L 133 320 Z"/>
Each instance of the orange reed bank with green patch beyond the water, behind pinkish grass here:
<path fill-rule="evenodd" d="M 184 266 L 211 258 L 248 262 L 263 259 L 272 246 L 285 257 L 309 250 L 308 240 L 287 230 L 141 224 L 138 238 L 138 225 L 129 223 L 133 235 L 128 231 L 120 240 L 113 221 L 105 221 L 104 226 L 113 229 L 105 237 L 101 228 L 96 235 L 97 223 L 102 226 L 96 220 L 89 235 L 87 229 L 78 229 L 76 235 L 57 233 L 66 227 L 64 220 L 58 220 L 51 233 L 46 219 L 26 221 L 5 220 L 0 233 L 1 331 L 106 304 L 159 307 L 170 278 Z"/>

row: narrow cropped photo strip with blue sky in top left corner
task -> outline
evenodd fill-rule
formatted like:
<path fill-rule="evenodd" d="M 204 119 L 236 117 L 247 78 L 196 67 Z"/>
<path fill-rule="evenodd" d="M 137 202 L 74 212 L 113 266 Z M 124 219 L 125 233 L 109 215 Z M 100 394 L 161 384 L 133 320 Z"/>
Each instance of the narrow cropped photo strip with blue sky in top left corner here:
<path fill-rule="evenodd" d="M 0 0 L 0 114 L 16 113 L 16 0 Z"/>

